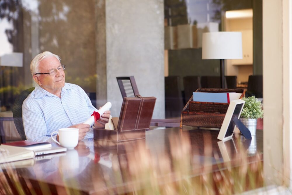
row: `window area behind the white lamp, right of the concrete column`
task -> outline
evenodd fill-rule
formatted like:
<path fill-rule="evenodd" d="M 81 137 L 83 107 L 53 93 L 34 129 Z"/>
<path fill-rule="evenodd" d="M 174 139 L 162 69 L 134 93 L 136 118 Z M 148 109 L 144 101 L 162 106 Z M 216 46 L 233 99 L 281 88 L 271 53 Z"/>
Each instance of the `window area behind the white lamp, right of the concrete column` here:
<path fill-rule="evenodd" d="M 225 60 L 225 88 L 241 88 L 247 95 L 262 98 L 261 2 L 164 1 L 166 118 L 179 118 L 181 104 L 185 105 L 196 89 L 220 88 L 219 60 L 202 60 L 204 32 L 242 33 L 243 59 Z M 259 77 L 256 83 L 251 81 L 255 75 Z M 175 82 L 168 82 L 173 77 Z"/>

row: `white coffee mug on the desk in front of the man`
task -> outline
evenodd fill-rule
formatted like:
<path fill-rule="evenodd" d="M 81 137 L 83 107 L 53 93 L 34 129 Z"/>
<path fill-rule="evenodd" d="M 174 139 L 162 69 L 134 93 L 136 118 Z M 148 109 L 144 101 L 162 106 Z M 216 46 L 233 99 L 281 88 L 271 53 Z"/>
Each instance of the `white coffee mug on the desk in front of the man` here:
<path fill-rule="evenodd" d="M 60 142 L 53 138 L 53 134 L 55 133 L 59 135 Z M 51 134 L 51 138 L 62 147 L 73 149 L 78 144 L 79 129 L 73 127 L 61 128 L 58 131 L 54 131 Z"/>

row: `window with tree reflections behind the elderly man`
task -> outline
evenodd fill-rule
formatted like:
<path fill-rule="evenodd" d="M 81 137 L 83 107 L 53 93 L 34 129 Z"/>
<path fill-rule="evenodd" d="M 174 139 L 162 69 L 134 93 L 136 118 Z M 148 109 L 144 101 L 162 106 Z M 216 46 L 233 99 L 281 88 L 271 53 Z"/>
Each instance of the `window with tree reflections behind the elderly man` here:
<path fill-rule="evenodd" d="M 30 61 L 43 51 L 62 56 L 66 82 L 78 84 L 96 102 L 94 8 L 92 0 L 1 1 L 1 111 L 10 111 L 16 96 L 33 87 Z"/>

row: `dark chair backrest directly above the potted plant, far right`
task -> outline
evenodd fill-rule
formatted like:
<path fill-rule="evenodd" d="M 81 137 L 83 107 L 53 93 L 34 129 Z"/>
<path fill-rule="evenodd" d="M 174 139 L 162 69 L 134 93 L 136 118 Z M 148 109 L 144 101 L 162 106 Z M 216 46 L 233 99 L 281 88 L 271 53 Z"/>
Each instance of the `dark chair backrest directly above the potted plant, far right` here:
<path fill-rule="evenodd" d="M 247 84 L 247 95 L 263 97 L 263 75 L 249 75 Z"/>

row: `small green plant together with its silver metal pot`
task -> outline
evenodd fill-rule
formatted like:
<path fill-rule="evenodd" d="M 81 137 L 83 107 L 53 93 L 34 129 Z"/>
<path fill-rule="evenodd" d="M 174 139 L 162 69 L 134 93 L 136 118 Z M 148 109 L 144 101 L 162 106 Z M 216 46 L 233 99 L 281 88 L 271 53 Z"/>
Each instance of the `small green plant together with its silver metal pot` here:
<path fill-rule="evenodd" d="M 251 135 L 256 135 L 256 125 L 258 118 L 263 118 L 263 107 L 261 102 L 255 97 L 244 97 L 245 101 L 239 120 L 250 130 Z"/>

